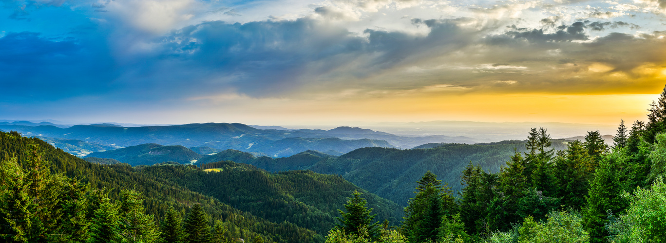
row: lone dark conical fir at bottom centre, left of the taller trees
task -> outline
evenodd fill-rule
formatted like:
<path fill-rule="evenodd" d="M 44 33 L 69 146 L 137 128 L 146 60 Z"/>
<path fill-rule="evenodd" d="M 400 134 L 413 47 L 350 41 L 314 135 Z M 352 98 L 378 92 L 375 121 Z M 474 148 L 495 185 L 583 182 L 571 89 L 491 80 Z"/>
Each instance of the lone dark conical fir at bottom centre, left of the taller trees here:
<path fill-rule="evenodd" d="M 344 204 L 344 208 L 347 212 L 338 209 L 340 212 L 340 222 L 336 227 L 344 230 L 346 234 L 354 234 L 360 236 L 360 228 L 366 228 L 368 230 L 368 236 L 370 238 L 378 237 L 379 233 L 379 222 L 372 223 L 374 217 L 377 214 L 370 214 L 372 208 L 368 209 L 366 204 L 368 203 L 366 199 L 360 197 L 363 193 L 360 193 L 358 190 L 352 193 L 352 197 L 348 198 L 347 203 Z"/>

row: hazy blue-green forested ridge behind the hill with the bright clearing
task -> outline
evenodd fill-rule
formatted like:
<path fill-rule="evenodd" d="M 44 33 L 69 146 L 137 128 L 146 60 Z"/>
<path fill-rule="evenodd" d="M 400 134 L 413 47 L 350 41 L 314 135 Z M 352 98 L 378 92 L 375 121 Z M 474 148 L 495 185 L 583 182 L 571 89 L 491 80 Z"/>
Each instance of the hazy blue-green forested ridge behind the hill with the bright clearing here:
<path fill-rule="evenodd" d="M 566 148 L 562 139 L 553 140 L 555 150 Z M 428 170 L 448 183 L 454 191 L 460 190 L 460 175 L 471 162 L 484 169 L 498 172 L 509 157 L 527 151 L 525 141 L 498 143 L 438 144 L 430 149 L 390 149 L 366 147 L 340 157 L 305 151 L 284 158 L 254 157 L 250 153 L 226 150 L 200 159 L 199 163 L 236 161 L 248 163 L 268 171 L 309 169 L 316 173 L 342 175 L 344 179 L 380 197 L 406 205 L 413 197 L 414 181 Z"/>

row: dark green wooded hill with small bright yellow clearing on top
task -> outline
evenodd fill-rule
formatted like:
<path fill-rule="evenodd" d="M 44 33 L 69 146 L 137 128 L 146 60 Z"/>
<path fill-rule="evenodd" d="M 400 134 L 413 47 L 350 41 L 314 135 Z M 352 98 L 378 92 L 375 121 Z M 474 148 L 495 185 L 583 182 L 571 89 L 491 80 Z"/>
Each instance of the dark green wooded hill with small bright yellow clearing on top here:
<path fill-rule="evenodd" d="M 231 161 L 202 165 L 209 166 L 217 168 L 208 172 L 193 166 L 151 166 L 140 173 L 209 195 L 273 222 L 286 220 L 320 234 L 336 224 L 338 209 L 344 208 L 348 195 L 356 190 L 364 193 L 379 220 L 397 224 L 402 216 L 394 202 L 372 195 L 338 175 L 312 171 L 268 173 Z"/>

